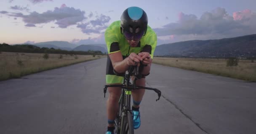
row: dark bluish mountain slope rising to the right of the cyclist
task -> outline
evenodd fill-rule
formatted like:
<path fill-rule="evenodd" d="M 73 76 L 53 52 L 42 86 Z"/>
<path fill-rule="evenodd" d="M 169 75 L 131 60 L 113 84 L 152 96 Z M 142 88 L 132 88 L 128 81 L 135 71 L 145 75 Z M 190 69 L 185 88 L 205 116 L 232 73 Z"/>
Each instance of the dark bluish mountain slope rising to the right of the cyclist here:
<path fill-rule="evenodd" d="M 256 57 L 256 34 L 227 39 L 162 44 L 156 47 L 155 56 Z"/>

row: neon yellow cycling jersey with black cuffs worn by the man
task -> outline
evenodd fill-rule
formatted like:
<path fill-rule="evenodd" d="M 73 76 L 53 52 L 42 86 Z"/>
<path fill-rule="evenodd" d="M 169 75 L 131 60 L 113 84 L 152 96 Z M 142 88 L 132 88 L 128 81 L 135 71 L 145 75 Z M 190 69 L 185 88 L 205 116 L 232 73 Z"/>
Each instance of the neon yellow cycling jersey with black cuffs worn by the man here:
<path fill-rule="evenodd" d="M 136 54 L 139 52 L 149 52 L 151 58 L 153 58 L 155 47 L 157 45 L 157 35 L 151 27 L 147 26 L 145 36 L 142 36 L 136 47 L 130 47 L 128 41 L 121 33 L 120 27 L 120 21 L 115 21 L 105 31 L 108 54 L 121 52 L 124 57 L 127 57 L 132 52 Z"/>

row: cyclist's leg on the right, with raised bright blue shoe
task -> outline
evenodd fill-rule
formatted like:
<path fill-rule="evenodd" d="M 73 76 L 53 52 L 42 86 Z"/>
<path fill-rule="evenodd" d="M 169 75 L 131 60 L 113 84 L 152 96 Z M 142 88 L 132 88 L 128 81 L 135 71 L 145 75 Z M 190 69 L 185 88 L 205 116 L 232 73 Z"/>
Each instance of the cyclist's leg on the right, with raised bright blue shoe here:
<path fill-rule="evenodd" d="M 141 78 L 139 80 L 136 80 L 136 86 L 145 86 L 145 78 Z M 143 95 L 145 93 L 145 89 L 139 89 L 139 90 L 133 90 L 132 92 L 133 96 L 133 128 L 138 129 L 141 121 L 140 121 L 140 113 L 139 113 L 139 105 L 142 101 Z"/>

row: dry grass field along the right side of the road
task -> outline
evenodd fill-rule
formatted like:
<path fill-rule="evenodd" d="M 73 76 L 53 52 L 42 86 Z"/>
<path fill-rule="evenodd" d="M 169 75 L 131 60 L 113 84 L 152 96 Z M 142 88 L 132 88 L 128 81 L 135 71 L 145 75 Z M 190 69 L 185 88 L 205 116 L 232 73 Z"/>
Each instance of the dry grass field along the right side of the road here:
<path fill-rule="evenodd" d="M 251 60 L 239 59 L 232 67 L 227 59 L 154 57 L 153 63 L 256 82 L 256 61 Z"/>

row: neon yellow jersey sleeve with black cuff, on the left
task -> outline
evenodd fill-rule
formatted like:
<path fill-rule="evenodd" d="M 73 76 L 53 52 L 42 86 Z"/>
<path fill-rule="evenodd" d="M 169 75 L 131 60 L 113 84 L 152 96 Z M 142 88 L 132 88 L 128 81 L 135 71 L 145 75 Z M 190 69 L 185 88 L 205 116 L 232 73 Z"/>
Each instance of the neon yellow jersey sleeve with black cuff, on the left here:
<path fill-rule="evenodd" d="M 115 23 L 112 23 L 105 31 L 104 36 L 105 36 L 108 54 L 120 52 L 119 43 L 118 43 L 119 39 L 117 36 L 117 33 L 118 33 L 117 28 L 118 27 L 115 25 Z"/>

